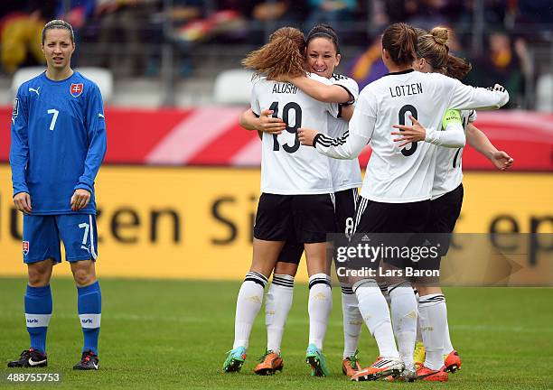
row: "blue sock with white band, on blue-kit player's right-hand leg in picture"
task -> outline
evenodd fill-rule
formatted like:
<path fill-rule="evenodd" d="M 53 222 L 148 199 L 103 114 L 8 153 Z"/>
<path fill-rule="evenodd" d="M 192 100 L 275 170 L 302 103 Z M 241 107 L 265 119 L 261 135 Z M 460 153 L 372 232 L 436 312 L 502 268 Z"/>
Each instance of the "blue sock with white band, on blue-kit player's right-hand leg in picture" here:
<path fill-rule="evenodd" d="M 98 281 L 77 287 L 79 293 L 79 319 L 84 335 L 82 351 L 91 350 L 98 355 L 98 335 L 102 313 L 102 293 Z"/>

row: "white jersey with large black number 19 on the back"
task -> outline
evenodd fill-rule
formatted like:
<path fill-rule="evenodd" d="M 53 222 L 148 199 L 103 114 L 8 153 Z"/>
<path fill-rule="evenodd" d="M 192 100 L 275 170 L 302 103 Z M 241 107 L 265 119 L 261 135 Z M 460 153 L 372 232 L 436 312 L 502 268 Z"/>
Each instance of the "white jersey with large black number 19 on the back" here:
<path fill-rule="evenodd" d="M 326 85 L 332 84 L 329 79 L 314 74 L 309 77 Z M 301 145 L 297 129 L 305 126 L 326 133 L 327 113 L 338 116 L 338 105 L 310 98 L 294 84 L 261 78 L 254 83 L 251 92 L 251 109 L 259 115 L 267 108 L 287 126 L 280 135 L 263 133 L 261 192 L 280 195 L 333 192 L 329 159 L 314 148 Z"/>

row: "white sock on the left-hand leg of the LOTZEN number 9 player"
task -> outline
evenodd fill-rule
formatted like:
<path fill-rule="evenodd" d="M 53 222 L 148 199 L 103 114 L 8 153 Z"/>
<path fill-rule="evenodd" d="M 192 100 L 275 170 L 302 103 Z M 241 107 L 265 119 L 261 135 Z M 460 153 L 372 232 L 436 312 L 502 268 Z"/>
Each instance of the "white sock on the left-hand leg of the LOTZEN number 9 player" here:
<path fill-rule="evenodd" d="M 380 287 L 374 281 L 364 279 L 353 284 L 353 291 L 359 301 L 361 316 L 379 346 L 380 356 L 398 358 L 388 305 Z"/>

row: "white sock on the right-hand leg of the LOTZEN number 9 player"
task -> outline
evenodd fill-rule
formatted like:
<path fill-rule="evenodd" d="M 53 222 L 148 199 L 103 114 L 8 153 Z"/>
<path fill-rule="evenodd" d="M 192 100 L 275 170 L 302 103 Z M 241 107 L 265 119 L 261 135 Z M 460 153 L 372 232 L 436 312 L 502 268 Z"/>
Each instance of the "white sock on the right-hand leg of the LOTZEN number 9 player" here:
<path fill-rule="evenodd" d="M 413 353 L 417 339 L 417 300 L 409 283 L 389 286 L 394 335 L 398 340 L 399 356 L 406 367 L 414 367 Z"/>

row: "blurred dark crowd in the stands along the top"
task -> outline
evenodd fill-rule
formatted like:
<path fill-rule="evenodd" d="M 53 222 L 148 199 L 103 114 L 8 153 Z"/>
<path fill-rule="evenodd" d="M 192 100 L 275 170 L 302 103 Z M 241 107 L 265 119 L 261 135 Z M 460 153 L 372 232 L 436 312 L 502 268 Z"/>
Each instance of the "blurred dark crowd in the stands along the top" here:
<path fill-rule="evenodd" d="M 342 45 L 367 48 L 345 59 L 360 87 L 385 72 L 379 35 L 386 25 L 447 25 L 457 32 L 452 51 L 474 64 L 467 82 L 500 81 L 515 95 L 532 76 L 529 42 L 551 48 L 553 39 L 551 0 L 2 0 L 5 73 L 42 61 L 40 32 L 55 18 L 73 25 L 78 44 L 95 45 L 97 54 L 87 65 L 125 68 L 135 76 L 159 70 L 144 43 L 170 42 L 181 53 L 180 73 L 186 75 L 193 72 L 191 53 L 205 42 L 260 44 L 281 25 L 306 32 L 315 23 L 329 23 Z M 483 40 L 474 51 L 477 26 Z"/>

